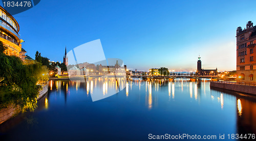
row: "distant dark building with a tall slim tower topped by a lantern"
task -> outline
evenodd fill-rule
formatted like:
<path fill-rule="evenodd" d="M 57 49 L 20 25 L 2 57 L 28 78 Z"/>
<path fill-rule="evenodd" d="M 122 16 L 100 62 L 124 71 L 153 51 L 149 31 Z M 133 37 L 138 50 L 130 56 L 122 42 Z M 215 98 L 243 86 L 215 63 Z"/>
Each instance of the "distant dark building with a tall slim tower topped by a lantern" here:
<path fill-rule="evenodd" d="M 197 75 L 199 76 L 217 76 L 218 69 L 202 69 L 201 57 L 198 57 L 197 61 Z"/>

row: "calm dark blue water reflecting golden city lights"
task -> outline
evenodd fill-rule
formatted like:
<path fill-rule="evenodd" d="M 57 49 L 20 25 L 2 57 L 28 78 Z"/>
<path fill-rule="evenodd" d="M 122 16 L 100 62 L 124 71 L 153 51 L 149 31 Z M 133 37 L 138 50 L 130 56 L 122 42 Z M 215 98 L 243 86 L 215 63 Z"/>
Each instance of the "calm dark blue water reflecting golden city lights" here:
<path fill-rule="evenodd" d="M 210 89 L 208 81 L 154 83 L 133 79 L 116 95 L 115 80 L 50 81 L 34 112 L 0 126 L 1 140 L 148 140 L 152 135 L 256 133 L 256 102 L 241 93 Z M 90 90 L 90 92 L 89 92 Z"/>

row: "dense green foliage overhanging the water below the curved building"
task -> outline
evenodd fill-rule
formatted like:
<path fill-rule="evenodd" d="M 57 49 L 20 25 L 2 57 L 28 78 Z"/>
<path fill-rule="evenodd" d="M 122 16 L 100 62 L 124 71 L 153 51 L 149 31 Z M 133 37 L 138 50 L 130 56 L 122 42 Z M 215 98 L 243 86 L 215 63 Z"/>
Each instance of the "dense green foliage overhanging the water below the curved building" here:
<path fill-rule="evenodd" d="M 0 43 L 0 51 L 3 51 L 3 48 Z M 41 89 L 36 83 L 38 80 L 48 80 L 47 67 L 38 62 L 24 65 L 20 58 L 1 52 L 0 68 L 0 105 L 13 103 L 22 111 L 33 111 Z"/>

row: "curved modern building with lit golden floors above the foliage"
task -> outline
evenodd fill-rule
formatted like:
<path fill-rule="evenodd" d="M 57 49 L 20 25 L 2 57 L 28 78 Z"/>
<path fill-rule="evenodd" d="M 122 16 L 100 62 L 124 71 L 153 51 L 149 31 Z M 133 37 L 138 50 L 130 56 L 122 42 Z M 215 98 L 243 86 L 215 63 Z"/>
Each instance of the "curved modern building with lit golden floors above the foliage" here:
<path fill-rule="evenodd" d="M 7 55 L 20 57 L 22 44 L 18 35 L 19 25 L 15 18 L 0 6 L 0 41 L 7 46 Z"/>

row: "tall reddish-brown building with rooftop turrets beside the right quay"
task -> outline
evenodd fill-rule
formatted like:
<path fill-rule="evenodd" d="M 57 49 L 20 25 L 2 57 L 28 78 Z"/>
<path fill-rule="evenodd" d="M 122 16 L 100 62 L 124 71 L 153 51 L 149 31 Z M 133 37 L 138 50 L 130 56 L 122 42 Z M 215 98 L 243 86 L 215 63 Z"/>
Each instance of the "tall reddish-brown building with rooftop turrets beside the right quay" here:
<path fill-rule="evenodd" d="M 237 28 L 237 81 L 256 82 L 256 52 L 254 46 L 256 42 L 256 26 L 248 21 L 246 29 Z"/>

